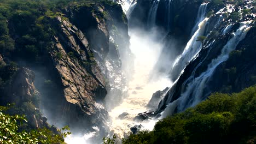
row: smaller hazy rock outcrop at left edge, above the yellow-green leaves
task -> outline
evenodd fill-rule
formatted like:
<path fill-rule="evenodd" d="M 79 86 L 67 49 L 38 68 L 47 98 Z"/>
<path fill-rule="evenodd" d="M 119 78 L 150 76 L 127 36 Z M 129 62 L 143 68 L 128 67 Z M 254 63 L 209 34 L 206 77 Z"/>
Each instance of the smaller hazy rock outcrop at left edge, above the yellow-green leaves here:
<path fill-rule="evenodd" d="M 7 105 L 14 103 L 13 107 L 8 110 L 10 114 L 26 115 L 28 126 L 26 129 L 31 128 L 48 128 L 54 131 L 56 127 L 49 126 L 46 122 L 47 118 L 44 117 L 39 110 L 39 97 L 40 93 L 34 87 L 34 78 L 35 75 L 33 71 L 27 68 L 16 68 L 11 65 L 5 65 L 3 57 L 0 55 L 1 62 L 1 105 Z M 5 73 L 5 76 L 3 75 Z M 9 73 L 9 74 L 8 74 Z M 8 78 L 7 75 L 9 75 Z"/>

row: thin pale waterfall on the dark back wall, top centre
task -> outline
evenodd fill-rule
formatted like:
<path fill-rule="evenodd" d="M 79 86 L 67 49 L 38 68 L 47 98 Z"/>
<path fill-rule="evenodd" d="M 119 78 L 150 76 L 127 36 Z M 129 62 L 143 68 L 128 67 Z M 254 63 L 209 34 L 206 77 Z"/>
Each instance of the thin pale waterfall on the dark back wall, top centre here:
<path fill-rule="evenodd" d="M 153 28 L 156 21 L 156 13 L 158 11 L 158 4 L 160 0 L 154 0 L 152 7 L 149 9 L 148 14 L 148 28 Z"/>

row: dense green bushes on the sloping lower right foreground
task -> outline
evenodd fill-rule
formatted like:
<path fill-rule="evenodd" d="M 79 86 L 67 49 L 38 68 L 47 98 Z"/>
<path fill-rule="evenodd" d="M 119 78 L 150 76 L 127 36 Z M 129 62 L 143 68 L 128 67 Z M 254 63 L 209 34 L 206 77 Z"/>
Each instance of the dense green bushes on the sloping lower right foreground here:
<path fill-rule="evenodd" d="M 156 123 L 123 143 L 254 143 L 256 86 L 240 93 L 214 93 L 194 108 Z"/>

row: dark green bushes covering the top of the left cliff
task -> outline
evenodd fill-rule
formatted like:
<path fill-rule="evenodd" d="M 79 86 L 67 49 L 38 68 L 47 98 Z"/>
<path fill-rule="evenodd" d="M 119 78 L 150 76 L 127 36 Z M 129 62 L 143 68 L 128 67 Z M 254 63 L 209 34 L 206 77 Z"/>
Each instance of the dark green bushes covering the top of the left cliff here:
<path fill-rule="evenodd" d="M 95 7 L 99 3 L 117 5 L 109 0 L 0 0 L 0 52 L 4 57 L 42 63 L 56 34 L 53 19 L 60 16 L 67 20 L 63 9 L 80 6 L 95 9 L 96 16 L 107 17 L 106 11 Z"/>

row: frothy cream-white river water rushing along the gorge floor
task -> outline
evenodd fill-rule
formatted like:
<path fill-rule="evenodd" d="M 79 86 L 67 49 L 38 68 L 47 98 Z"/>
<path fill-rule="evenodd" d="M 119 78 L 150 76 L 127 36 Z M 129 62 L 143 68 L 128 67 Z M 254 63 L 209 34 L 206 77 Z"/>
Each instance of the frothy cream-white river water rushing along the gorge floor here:
<path fill-rule="evenodd" d="M 147 111 L 152 94 L 160 89 L 171 85 L 171 81 L 164 75 L 154 76 L 154 65 L 158 61 L 161 44 L 155 41 L 154 33 L 148 34 L 131 29 L 130 49 L 135 55 L 135 71 L 133 79 L 129 82 L 129 96 L 123 103 L 109 112 L 112 119 L 110 129 L 120 137 L 130 131 L 130 127 L 142 124 L 144 129 L 152 129 L 154 121 L 136 122 L 133 118 L 140 112 Z M 120 119 L 118 116 L 123 112 L 129 113 L 127 118 Z"/>

